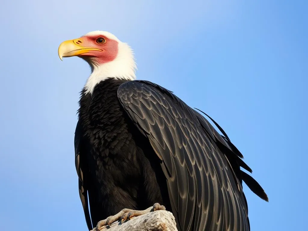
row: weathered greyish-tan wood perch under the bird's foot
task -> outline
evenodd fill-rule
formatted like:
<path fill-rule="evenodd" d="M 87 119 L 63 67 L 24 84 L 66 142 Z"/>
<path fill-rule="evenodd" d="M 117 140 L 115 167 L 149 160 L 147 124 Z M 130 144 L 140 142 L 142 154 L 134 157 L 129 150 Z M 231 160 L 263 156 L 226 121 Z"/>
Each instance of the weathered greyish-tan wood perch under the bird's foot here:
<path fill-rule="evenodd" d="M 93 229 L 95 231 L 95 229 Z M 133 217 L 124 222 L 114 222 L 105 226 L 101 231 L 177 231 L 172 213 L 157 210 L 144 215 Z"/>

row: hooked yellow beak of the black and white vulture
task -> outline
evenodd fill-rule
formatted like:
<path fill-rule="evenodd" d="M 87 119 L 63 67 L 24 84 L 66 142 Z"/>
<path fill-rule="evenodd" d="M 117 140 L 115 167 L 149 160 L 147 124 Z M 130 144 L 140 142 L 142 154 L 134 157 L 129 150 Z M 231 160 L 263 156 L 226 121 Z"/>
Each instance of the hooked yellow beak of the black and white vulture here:
<path fill-rule="evenodd" d="M 63 57 L 72 57 L 87 53 L 88 51 L 102 51 L 101 49 L 93 47 L 83 47 L 82 39 L 72 39 L 64 41 L 58 48 L 59 58 L 62 60 Z"/>

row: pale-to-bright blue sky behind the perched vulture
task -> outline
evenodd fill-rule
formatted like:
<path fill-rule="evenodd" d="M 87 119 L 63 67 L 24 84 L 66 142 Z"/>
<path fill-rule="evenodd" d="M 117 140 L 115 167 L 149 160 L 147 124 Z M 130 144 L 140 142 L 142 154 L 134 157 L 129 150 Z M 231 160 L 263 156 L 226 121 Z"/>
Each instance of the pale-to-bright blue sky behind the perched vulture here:
<path fill-rule="evenodd" d="M 270 199 L 245 187 L 251 230 L 306 230 L 308 2 L 166 2 L 1 3 L 0 230 L 87 230 L 74 131 L 90 68 L 57 51 L 92 30 L 227 132 Z"/>

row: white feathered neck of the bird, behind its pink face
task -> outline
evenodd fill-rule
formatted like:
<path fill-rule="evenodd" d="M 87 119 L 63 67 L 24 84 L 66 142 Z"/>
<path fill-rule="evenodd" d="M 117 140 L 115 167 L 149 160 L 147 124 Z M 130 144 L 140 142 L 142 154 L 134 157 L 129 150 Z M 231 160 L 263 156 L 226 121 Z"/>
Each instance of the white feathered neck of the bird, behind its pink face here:
<path fill-rule="evenodd" d="M 118 55 L 108 63 L 97 64 L 94 58 L 89 58 L 87 62 L 91 66 L 91 75 L 84 86 L 86 94 L 93 93 L 95 86 L 105 79 L 136 79 L 136 63 L 132 49 L 126 43 L 119 43 Z"/>

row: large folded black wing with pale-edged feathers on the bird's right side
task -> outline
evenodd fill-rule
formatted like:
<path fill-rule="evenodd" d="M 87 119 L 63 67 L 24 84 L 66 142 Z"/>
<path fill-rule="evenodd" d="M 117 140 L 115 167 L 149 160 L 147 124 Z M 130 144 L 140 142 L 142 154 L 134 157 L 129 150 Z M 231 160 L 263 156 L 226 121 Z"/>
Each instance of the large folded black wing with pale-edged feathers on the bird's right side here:
<path fill-rule="evenodd" d="M 262 196 L 259 184 L 240 172 L 251 169 L 222 128 L 171 91 L 148 81 L 120 85 L 118 97 L 162 160 L 179 231 L 248 230 L 242 176 Z"/>

